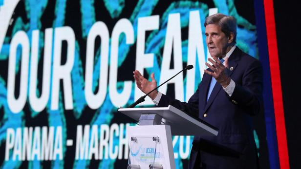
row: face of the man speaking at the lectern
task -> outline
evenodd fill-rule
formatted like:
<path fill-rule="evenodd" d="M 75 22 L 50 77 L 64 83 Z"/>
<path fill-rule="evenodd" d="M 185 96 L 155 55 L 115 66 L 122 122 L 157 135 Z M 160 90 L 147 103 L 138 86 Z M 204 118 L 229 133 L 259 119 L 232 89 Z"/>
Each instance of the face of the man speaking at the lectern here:
<path fill-rule="evenodd" d="M 230 50 L 229 38 L 215 24 L 208 24 L 205 30 L 206 43 L 210 55 L 222 58 Z M 228 49 L 227 49 L 228 48 Z"/>

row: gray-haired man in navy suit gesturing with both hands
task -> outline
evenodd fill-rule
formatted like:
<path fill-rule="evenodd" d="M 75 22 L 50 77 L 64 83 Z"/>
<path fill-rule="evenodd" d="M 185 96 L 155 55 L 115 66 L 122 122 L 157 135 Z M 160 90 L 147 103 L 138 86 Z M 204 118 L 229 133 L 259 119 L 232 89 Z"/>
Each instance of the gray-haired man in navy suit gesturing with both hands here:
<path fill-rule="evenodd" d="M 158 107 L 172 105 L 215 126 L 217 136 L 194 137 L 190 169 L 257 169 L 258 157 L 252 115 L 262 111 L 262 68 L 260 62 L 236 44 L 237 24 L 231 16 L 206 18 L 209 67 L 188 103 L 155 91 L 149 96 Z M 134 71 L 138 88 L 148 93 L 156 87 Z"/>

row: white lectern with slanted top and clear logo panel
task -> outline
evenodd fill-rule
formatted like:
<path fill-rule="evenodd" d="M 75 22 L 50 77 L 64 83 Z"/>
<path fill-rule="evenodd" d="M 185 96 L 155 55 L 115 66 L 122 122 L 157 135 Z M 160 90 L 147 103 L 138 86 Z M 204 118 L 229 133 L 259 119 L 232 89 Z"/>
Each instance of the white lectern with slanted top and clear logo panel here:
<path fill-rule="evenodd" d="M 217 135 L 215 127 L 169 105 L 160 108 L 123 108 L 118 112 L 139 121 L 127 130 L 128 169 L 175 169 L 172 135 Z"/>

